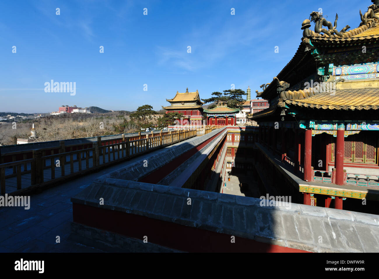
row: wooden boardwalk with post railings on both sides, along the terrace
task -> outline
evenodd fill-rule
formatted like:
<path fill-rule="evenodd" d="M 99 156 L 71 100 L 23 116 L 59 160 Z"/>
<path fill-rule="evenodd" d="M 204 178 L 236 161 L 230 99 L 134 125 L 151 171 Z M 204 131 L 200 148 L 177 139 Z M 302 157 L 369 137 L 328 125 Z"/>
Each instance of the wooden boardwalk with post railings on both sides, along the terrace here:
<path fill-rule="evenodd" d="M 97 137 L 97 141 L 92 142 L 83 139 L 85 142 L 67 146 L 65 146 L 65 141 L 60 141 L 59 147 L 2 153 L 0 154 L 0 162 L 2 162 L 0 164 L 0 194 L 19 192 L 26 188 L 36 188 L 66 180 L 197 135 L 208 134 L 217 128 L 220 127 L 181 128 L 171 131 L 161 130 L 159 134 L 152 132 L 145 135 L 139 132 L 138 136 L 129 137 L 122 134 L 113 139 Z M 12 162 L 4 163 L 4 158 L 11 158 Z M 16 161 L 16 158 L 23 159 Z"/>

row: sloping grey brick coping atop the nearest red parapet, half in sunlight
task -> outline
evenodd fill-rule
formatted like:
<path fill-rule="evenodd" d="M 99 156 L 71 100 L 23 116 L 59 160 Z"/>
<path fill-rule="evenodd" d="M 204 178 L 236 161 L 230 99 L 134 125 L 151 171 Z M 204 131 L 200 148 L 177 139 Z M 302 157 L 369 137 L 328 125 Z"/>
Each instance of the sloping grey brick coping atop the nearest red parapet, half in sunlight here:
<path fill-rule="evenodd" d="M 260 206 L 251 197 L 114 178 L 98 180 L 71 201 L 306 251 L 379 252 L 379 216 L 373 214 Z"/>

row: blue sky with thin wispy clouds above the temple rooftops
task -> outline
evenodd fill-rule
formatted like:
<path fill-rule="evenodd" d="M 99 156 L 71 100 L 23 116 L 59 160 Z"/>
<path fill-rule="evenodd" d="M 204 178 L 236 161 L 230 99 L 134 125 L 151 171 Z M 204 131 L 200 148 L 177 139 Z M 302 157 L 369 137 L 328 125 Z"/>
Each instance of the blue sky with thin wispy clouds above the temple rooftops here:
<path fill-rule="evenodd" d="M 0 111 L 51 112 L 63 104 L 159 110 L 186 87 L 200 98 L 231 84 L 255 93 L 291 60 L 312 11 L 322 8 L 331 22 L 338 13 L 340 30 L 358 27 L 359 9 L 371 5 L 317 2 L 3 1 Z M 76 94 L 45 93 L 52 79 L 76 82 Z"/>

